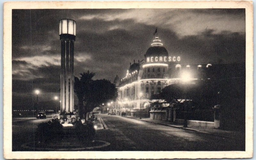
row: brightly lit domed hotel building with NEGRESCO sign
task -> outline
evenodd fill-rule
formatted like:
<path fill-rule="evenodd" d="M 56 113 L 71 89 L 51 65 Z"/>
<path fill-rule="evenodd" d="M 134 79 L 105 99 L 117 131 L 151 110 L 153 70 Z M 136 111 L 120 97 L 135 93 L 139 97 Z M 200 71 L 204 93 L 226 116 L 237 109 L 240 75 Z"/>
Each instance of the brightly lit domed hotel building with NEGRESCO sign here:
<path fill-rule="evenodd" d="M 150 102 L 156 101 L 151 99 L 152 95 L 159 94 L 164 87 L 180 83 L 183 80 L 196 83 L 199 79 L 210 78 L 202 71 L 210 69 L 211 64 L 181 65 L 182 57 L 169 55 L 158 37 L 153 40 L 144 56 L 145 59 L 142 61 L 135 62 L 134 60 L 133 64 L 130 63 L 125 77 L 120 79 L 116 75 L 114 80 L 118 91 L 114 107 L 128 115 L 150 116 L 152 119 L 161 120 L 167 118 L 169 114 L 173 113 L 169 113 L 166 109 L 150 110 Z M 160 101 L 163 102 L 163 100 Z M 170 106 L 170 104 L 163 104 L 163 107 L 166 108 L 170 108 Z M 155 115 L 158 117 L 155 118 Z"/>

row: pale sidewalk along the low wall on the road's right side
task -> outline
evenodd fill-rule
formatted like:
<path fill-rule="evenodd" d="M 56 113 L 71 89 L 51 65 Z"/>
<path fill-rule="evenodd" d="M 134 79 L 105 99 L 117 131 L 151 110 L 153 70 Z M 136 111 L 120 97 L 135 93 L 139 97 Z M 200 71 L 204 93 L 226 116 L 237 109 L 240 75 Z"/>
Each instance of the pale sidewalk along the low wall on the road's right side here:
<path fill-rule="evenodd" d="M 224 137 L 224 138 L 245 137 L 245 133 L 238 132 L 238 131 L 225 131 L 225 130 L 220 130 L 220 129 L 215 129 L 215 128 L 206 128 L 206 127 L 191 126 L 191 125 L 188 125 L 187 128 L 183 128 L 183 125 L 173 124 L 172 122 L 168 122 L 168 121 L 155 120 L 155 119 L 150 119 L 150 118 L 140 119 L 139 117 L 132 117 L 132 116 L 126 116 L 126 117 L 133 118 L 133 119 L 139 119 L 139 120 L 146 121 L 146 122 L 156 123 L 156 124 L 160 124 L 160 125 L 164 125 L 164 126 L 170 126 L 170 127 L 180 128 L 180 129 L 184 129 L 184 130 L 191 130 L 191 131 L 195 131 L 195 132 L 199 132 L 199 133 L 215 135 L 215 136 Z"/>

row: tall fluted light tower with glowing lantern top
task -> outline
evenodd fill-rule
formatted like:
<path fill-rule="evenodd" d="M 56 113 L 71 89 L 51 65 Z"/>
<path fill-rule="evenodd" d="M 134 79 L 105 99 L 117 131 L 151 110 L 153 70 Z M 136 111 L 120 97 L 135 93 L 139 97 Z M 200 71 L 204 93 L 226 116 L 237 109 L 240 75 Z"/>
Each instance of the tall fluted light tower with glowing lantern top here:
<path fill-rule="evenodd" d="M 60 100 L 61 113 L 74 110 L 74 42 L 76 41 L 76 21 L 60 20 L 61 75 Z"/>

